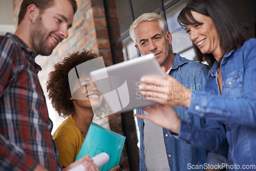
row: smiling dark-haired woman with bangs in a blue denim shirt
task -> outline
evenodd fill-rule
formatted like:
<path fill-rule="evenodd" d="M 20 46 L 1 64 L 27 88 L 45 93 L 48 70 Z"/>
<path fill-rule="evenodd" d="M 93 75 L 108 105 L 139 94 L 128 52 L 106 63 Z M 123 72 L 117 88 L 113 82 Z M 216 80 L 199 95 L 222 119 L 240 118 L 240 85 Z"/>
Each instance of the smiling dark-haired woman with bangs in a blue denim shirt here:
<path fill-rule="evenodd" d="M 220 0 L 190 1 L 180 12 L 178 22 L 189 34 L 196 56 L 211 67 L 206 92 L 188 90 L 168 75 L 166 79 L 143 77 L 141 94 L 161 103 L 162 109 L 152 106 L 144 109 L 150 115 L 136 116 L 150 119 L 177 134 L 177 138 L 205 148 L 218 143 L 200 128 L 182 121 L 171 106 L 182 105 L 188 114 L 217 120 L 226 127 L 226 168 L 256 170 L 256 39 L 246 40 Z M 159 86 L 166 83 L 169 86 Z M 177 97 L 174 94 L 178 98 L 170 98 Z"/>

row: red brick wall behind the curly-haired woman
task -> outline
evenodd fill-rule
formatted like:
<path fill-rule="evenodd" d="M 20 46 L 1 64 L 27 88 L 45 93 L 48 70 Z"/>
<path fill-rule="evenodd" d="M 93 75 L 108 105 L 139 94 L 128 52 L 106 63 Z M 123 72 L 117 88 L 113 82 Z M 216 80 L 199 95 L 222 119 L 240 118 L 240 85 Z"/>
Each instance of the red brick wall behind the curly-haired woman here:
<path fill-rule="evenodd" d="M 22 0 L 13 0 L 14 9 L 14 22 L 17 23 L 17 16 L 19 12 L 19 7 Z M 114 29 L 114 37 L 120 37 L 118 16 L 116 11 L 115 0 L 109 0 L 110 6 L 110 17 L 111 26 Z M 36 62 L 41 66 L 42 71 L 39 72 L 38 77 L 46 95 L 49 116 L 54 123 L 53 132 L 56 130 L 57 126 L 63 121 L 58 114 L 52 109 L 50 101 L 48 99 L 48 94 L 46 92 L 46 81 L 48 74 L 53 70 L 53 65 L 66 57 L 69 53 L 82 50 L 83 48 L 94 50 L 104 60 L 112 62 L 111 46 L 109 41 L 108 27 L 105 18 L 105 10 L 103 0 L 77 0 L 78 9 L 74 16 L 73 27 L 69 29 L 69 37 L 63 40 L 53 51 L 50 56 L 37 56 Z M 122 56 L 122 46 L 119 44 L 116 46 L 116 53 L 118 54 L 118 61 L 123 60 Z M 139 151 L 137 147 L 137 136 L 136 127 L 132 114 L 129 114 L 127 119 L 128 125 L 131 128 L 129 135 L 125 135 L 126 138 L 132 139 L 132 146 L 126 148 L 126 142 L 121 156 L 120 163 L 124 165 L 124 170 L 130 170 L 130 165 L 136 167 L 138 170 L 139 162 Z M 132 118 L 131 118 L 132 117 Z M 97 121 L 96 121 L 97 122 Z M 104 127 L 107 127 L 119 134 L 124 135 L 122 116 L 120 114 L 110 115 L 109 118 L 104 118 L 98 121 Z M 52 132 L 52 133 L 53 133 Z M 129 154 L 130 159 L 126 153 L 126 150 L 132 150 Z M 129 161 L 130 160 L 130 161 Z"/>

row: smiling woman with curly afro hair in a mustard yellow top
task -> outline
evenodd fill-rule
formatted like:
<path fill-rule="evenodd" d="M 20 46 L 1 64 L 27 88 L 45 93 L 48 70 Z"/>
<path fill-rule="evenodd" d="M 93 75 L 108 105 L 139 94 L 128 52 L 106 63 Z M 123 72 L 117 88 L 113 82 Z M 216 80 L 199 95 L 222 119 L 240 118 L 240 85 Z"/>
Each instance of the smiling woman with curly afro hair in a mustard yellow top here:
<path fill-rule="evenodd" d="M 106 103 L 90 77 L 90 71 L 102 66 L 98 66 L 97 62 L 83 65 L 97 57 L 97 54 L 88 50 L 75 52 L 57 62 L 54 71 L 49 74 L 48 97 L 59 116 L 68 117 L 53 134 L 62 167 L 75 161 L 94 114 L 106 116 Z M 75 74 L 71 78 L 72 71 Z M 75 80 L 79 82 L 78 87 L 74 85 Z M 74 91 L 74 88 L 77 89 Z M 111 170 L 119 170 L 119 165 Z"/>

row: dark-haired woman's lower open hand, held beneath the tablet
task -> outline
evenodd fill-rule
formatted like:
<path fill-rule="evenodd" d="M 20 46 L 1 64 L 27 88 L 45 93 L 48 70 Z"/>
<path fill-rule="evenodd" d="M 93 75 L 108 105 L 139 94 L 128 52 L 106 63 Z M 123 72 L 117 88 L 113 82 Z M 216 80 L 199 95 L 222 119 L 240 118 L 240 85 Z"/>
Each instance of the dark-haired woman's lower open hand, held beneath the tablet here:
<path fill-rule="evenodd" d="M 156 104 L 142 108 L 142 110 L 148 112 L 149 115 L 134 114 L 134 116 L 141 119 L 148 119 L 153 123 L 179 135 L 181 120 L 172 106 L 168 104 Z"/>

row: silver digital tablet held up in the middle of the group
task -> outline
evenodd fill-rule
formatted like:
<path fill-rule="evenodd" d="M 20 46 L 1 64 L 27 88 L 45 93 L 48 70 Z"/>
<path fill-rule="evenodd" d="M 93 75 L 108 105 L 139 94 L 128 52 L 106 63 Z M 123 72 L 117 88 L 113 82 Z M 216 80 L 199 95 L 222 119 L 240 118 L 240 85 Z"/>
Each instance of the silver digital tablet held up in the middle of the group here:
<path fill-rule="evenodd" d="M 140 78 L 145 75 L 164 78 L 154 54 L 140 56 L 90 72 L 112 113 L 123 113 L 156 104 L 140 94 Z"/>

